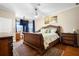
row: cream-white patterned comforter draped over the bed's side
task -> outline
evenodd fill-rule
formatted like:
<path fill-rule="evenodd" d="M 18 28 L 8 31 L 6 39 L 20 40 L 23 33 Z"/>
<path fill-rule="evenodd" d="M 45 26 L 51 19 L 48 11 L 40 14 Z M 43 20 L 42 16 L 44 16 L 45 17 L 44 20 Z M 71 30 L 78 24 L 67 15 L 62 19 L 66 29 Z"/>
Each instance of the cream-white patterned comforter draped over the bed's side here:
<path fill-rule="evenodd" d="M 47 49 L 49 46 L 49 43 L 55 41 L 57 38 L 59 38 L 57 33 L 42 33 L 44 38 L 44 48 Z"/>

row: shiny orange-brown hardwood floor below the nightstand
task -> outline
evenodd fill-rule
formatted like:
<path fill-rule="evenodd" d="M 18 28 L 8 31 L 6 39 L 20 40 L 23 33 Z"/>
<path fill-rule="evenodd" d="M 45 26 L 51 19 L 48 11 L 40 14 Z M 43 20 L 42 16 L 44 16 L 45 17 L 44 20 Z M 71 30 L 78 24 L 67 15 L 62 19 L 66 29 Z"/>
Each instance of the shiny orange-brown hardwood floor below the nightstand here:
<path fill-rule="evenodd" d="M 55 45 L 56 48 L 63 50 L 63 56 L 79 56 L 79 47 L 72 47 L 64 44 Z"/>

